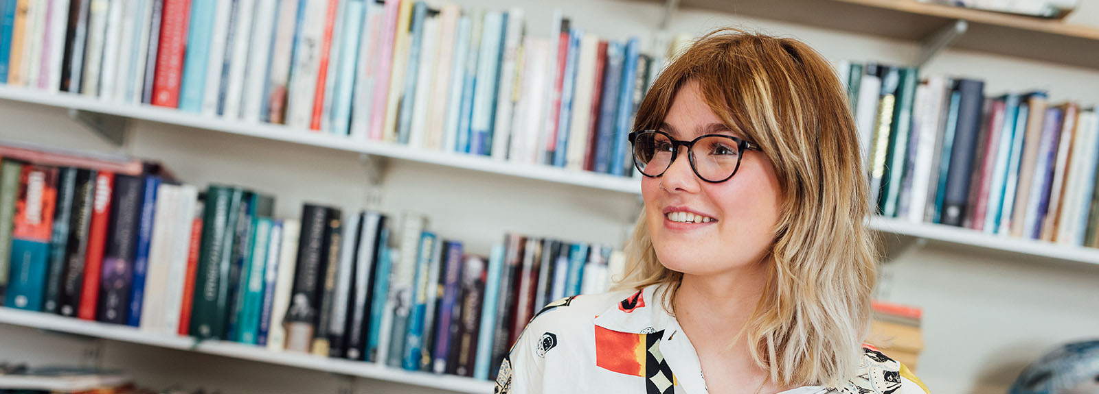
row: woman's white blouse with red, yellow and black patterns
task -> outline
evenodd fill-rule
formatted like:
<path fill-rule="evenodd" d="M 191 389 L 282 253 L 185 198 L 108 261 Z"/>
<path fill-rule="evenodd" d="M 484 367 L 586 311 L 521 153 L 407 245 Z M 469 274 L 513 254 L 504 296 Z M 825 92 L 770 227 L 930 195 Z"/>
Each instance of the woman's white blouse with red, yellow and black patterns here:
<path fill-rule="evenodd" d="M 546 305 L 500 365 L 496 394 L 708 393 L 695 347 L 651 285 L 631 293 L 579 295 Z M 608 307 L 610 306 L 610 307 Z M 846 386 L 780 394 L 928 394 L 903 364 L 865 347 Z"/>

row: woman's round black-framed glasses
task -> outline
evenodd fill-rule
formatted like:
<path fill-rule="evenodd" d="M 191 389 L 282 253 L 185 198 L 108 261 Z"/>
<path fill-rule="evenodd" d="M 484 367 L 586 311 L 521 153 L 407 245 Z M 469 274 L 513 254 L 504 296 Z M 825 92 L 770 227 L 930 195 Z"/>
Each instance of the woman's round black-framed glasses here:
<path fill-rule="evenodd" d="M 685 146 L 691 170 L 710 183 L 733 178 L 741 167 L 742 153 L 761 150 L 759 146 L 731 135 L 707 134 L 679 140 L 655 130 L 630 133 L 630 144 L 633 145 L 633 165 L 645 177 L 663 176 L 679 155 L 679 147 Z"/>

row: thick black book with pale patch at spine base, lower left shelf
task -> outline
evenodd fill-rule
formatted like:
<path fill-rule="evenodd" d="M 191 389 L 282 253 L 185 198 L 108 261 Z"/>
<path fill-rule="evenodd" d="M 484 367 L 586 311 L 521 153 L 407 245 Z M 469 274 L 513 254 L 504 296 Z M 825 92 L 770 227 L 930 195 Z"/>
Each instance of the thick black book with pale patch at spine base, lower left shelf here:
<path fill-rule="evenodd" d="M 293 295 L 286 312 L 288 350 L 308 352 L 313 340 L 320 304 L 319 278 L 323 277 L 328 244 L 329 209 L 306 204 L 301 211 L 301 233 L 298 238 L 298 261 L 295 267 Z"/>

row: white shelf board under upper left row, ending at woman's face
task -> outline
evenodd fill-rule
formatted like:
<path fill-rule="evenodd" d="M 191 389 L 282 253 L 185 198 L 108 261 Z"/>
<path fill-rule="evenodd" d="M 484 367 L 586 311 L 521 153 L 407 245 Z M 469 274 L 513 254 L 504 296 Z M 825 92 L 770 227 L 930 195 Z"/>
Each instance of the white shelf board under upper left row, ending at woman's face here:
<path fill-rule="evenodd" d="M 48 93 L 26 88 L 0 85 L 0 99 L 210 130 L 299 145 L 354 151 L 398 160 L 424 162 L 554 183 L 573 184 L 626 194 L 637 194 L 641 192 L 641 181 L 635 178 L 615 177 L 591 171 L 568 170 L 543 165 L 495 160 L 485 156 L 414 149 L 398 144 L 356 140 L 348 137 L 321 134 L 308 130 L 296 130 L 277 124 L 226 121 L 220 117 L 203 116 L 168 108 L 108 102 L 65 92 Z"/>

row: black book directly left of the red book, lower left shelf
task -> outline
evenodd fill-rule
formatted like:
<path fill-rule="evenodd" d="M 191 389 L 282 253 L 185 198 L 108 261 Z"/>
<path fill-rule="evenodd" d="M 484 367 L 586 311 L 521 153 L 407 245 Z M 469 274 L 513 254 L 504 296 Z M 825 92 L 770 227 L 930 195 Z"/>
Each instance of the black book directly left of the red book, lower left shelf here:
<path fill-rule="evenodd" d="M 69 215 L 68 241 L 65 245 L 65 267 L 62 271 L 58 313 L 76 316 L 80 309 L 80 291 L 84 288 L 84 262 L 88 250 L 88 230 L 96 200 L 96 170 L 78 169 L 73 194 L 73 213 Z"/>

